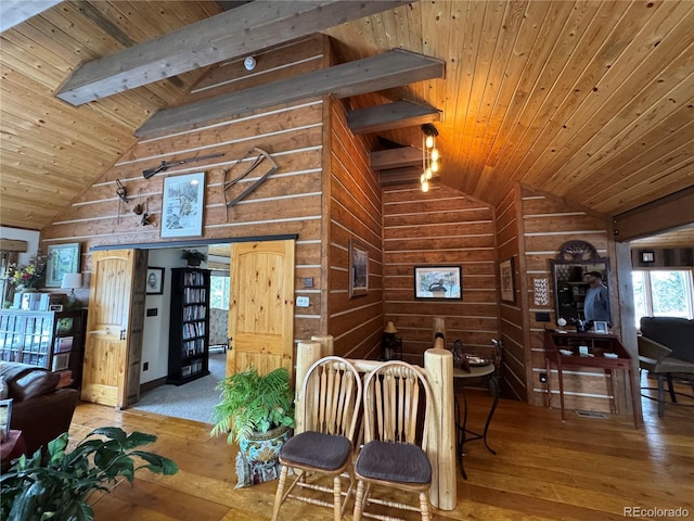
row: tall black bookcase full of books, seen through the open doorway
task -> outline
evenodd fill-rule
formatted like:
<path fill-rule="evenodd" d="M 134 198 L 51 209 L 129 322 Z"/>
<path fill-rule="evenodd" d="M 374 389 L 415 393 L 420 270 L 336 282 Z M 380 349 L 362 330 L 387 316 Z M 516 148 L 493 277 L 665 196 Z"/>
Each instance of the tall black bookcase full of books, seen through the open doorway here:
<path fill-rule="evenodd" d="M 209 374 L 209 270 L 171 269 L 169 371 L 181 385 Z"/>

